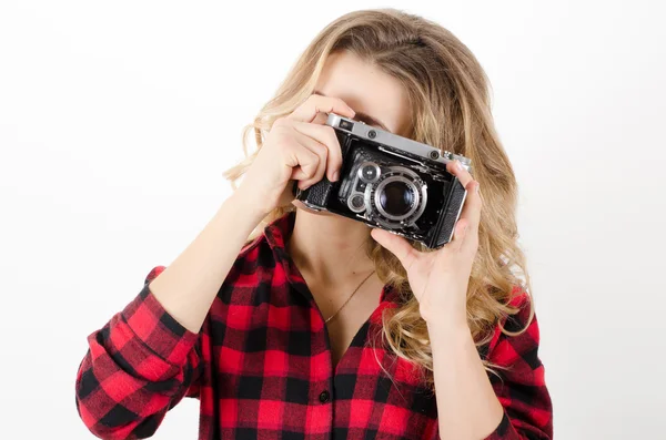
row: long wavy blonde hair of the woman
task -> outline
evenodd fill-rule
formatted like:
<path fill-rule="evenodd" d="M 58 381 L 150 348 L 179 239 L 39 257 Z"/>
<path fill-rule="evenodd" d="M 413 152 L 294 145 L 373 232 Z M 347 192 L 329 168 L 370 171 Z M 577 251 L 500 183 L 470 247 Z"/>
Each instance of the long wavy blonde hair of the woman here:
<path fill-rule="evenodd" d="M 326 58 L 343 50 L 373 63 L 402 84 L 414 115 L 408 137 L 472 160 L 474 178 L 483 188 L 483 209 L 478 252 L 467 289 L 467 320 L 476 345 L 483 346 L 503 318 L 518 311 L 509 305 L 515 288 L 529 295 L 531 284 L 525 255 L 517 245 L 516 178 L 494 127 L 488 79 L 470 49 L 442 25 L 392 8 L 350 12 L 327 24 L 297 59 L 274 98 L 243 127 L 245 160 L 224 172 L 224 176 L 235 190 L 273 122 L 293 112 L 312 94 Z M 256 142 L 251 154 L 249 131 L 253 131 Z M 279 207 L 270 213 L 249 239 L 293 209 Z M 405 270 L 393 254 L 372 238 L 367 254 L 379 277 L 396 288 L 402 299 L 398 307 L 383 310 L 383 339 L 397 357 L 422 367 L 423 379 L 432 388 L 427 327 Z M 532 301 L 528 306 L 531 321 Z M 504 328 L 502 331 L 515 335 Z M 497 367 L 485 359 L 484 366 L 490 371 Z"/>

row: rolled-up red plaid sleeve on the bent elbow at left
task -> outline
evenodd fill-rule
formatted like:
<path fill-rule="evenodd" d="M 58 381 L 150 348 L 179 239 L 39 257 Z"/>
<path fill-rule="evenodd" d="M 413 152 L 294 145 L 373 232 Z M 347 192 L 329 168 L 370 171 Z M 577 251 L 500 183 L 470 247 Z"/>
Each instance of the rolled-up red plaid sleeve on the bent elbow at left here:
<path fill-rule="evenodd" d="M 168 410 L 201 387 L 200 337 L 179 324 L 149 289 L 88 337 L 77 374 L 77 410 L 102 439 L 152 436 Z"/>

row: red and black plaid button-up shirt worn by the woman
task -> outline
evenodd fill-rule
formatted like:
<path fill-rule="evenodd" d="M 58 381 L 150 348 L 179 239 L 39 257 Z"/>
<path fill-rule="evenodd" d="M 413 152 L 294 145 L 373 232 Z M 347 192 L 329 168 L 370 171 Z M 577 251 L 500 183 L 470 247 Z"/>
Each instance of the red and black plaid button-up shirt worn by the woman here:
<path fill-rule="evenodd" d="M 435 396 L 380 337 L 371 341 L 381 331 L 382 310 L 401 300 L 394 289 L 384 288 L 333 368 L 324 319 L 284 248 L 293 217 L 278 219 L 241 250 L 199 334 L 149 290 L 164 266 L 150 270 L 137 298 L 88 337 L 77 409 L 91 432 L 150 437 L 168 410 L 194 397 L 201 440 L 438 438 Z M 505 323 L 508 330 L 522 327 L 524 310 Z M 505 412 L 488 439 L 552 438 L 537 348 L 536 319 L 517 337 L 497 329 L 481 347 L 483 357 L 508 367 L 497 370 L 502 380 L 490 376 Z"/>

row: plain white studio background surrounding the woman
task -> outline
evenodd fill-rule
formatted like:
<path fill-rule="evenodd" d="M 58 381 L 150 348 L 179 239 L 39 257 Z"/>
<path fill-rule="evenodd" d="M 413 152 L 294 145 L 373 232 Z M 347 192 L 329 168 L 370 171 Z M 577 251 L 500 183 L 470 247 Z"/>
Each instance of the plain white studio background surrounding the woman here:
<path fill-rule="evenodd" d="M 85 337 L 230 194 L 241 126 L 353 9 L 433 19 L 490 75 L 556 439 L 666 439 L 658 1 L 0 3 L 2 439 L 90 439 Z M 198 402 L 155 439 L 195 439 Z"/>

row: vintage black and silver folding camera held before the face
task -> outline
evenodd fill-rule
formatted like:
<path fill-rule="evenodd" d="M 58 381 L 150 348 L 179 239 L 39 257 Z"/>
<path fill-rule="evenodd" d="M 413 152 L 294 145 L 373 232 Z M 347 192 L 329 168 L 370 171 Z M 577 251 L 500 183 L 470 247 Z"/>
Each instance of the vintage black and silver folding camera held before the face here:
<path fill-rule="evenodd" d="M 391 231 L 428 248 L 448 243 L 467 192 L 446 163 L 458 160 L 471 172 L 470 160 L 402 137 L 363 122 L 330 113 L 342 147 L 336 182 L 324 176 L 296 199 Z"/>

